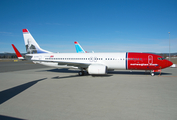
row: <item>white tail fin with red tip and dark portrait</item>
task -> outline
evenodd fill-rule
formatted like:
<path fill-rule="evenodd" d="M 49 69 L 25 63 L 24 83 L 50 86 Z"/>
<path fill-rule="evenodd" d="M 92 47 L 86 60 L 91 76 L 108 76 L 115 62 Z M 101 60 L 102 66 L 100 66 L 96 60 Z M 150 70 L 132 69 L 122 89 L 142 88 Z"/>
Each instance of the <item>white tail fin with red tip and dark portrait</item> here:
<path fill-rule="evenodd" d="M 23 37 L 26 47 L 26 52 L 28 54 L 35 54 L 35 53 L 51 53 L 49 51 L 43 50 L 39 47 L 33 36 L 27 29 L 23 29 Z"/>

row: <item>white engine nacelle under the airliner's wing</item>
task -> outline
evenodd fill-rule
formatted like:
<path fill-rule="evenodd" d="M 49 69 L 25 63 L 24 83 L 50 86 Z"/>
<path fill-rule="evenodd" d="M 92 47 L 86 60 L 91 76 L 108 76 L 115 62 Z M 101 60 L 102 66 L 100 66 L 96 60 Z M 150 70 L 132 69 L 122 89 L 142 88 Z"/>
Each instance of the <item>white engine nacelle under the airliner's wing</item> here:
<path fill-rule="evenodd" d="M 107 67 L 105 65 L 89 65 L 89 74 L 107 74 Z"/>

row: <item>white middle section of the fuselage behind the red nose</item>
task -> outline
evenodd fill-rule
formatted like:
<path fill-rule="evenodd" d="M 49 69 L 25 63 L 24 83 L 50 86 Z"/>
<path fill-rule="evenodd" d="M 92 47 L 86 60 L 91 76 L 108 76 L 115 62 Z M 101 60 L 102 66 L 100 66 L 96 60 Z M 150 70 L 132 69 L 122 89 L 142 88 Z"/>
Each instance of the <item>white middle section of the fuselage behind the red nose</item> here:
<path fill-rule="evenodd" d="M 80 64 L 102 64 L 108 69 L 126 69 L 126 52 L 122 53 L 43 53 L 30 54 L 32 61 L 51 67 L 66 67 L 62 62 L 80 63 Z M 47 62 L 48 61 L 48 62 Z M 50 62 L 53 61 L 53 62 Z M 56 62 L 55 62 L 56 61 Z M 57 63 L 59 62 L 59 64 Z M 71 66 L 72 67 L 72 66 Z"/>

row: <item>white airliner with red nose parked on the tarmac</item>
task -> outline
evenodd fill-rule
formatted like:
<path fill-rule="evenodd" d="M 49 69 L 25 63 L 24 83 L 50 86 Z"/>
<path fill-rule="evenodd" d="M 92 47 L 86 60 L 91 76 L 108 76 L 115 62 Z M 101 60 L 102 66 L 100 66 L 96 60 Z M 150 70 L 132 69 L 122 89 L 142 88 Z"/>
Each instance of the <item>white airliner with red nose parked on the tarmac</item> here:
<path fill-rule="evenodd" d="M 80 76 L 84 75 L 85 71 L 91 75 L 104 75 L 108 70 L 149 70 L 151 76 L 154 76 L 154 72 L 159 72 L 173 64 L 151 53 L 51 53 L 36 46 L 37 43 L 27 29 L 22 31 L 28 60 L 77 68 L 81 70 Z"/>

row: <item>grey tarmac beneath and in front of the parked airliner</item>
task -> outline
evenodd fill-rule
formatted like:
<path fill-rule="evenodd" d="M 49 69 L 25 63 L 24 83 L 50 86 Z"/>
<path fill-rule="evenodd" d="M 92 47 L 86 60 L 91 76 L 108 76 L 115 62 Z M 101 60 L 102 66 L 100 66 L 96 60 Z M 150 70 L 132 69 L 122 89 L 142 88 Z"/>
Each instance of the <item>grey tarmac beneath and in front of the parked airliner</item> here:
<path fill-rule="evenodd" d="M 77 70 L 0 62 L 0 120 L 176 120 L 177 69 L 78 76 Z"/>

